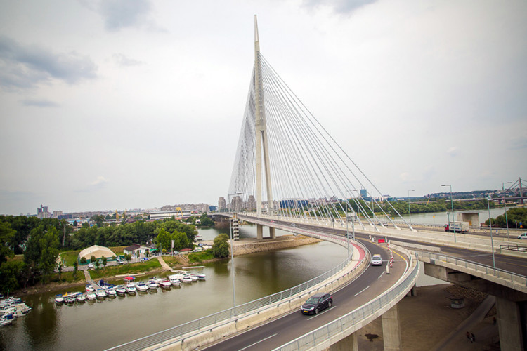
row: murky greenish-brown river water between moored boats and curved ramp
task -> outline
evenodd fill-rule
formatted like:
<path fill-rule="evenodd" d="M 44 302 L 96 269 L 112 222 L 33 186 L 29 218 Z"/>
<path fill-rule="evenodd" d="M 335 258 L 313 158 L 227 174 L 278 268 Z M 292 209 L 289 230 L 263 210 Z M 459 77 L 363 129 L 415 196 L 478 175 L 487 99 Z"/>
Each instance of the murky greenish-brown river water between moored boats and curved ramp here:
<path fill-rule="evenodd" d="M 200 230 L 204 240 L 214 239 L 219 232 L 228 233 L 228 228 Z M 282 234 L 288 233 L 277 230 L 277 235 Z M 256 226 L 242 226 L 240 237 L 256 237 Z M 323 241 L 236 256 L 236 303 L 246 303 L 312 279 L 339 265 L 346 259 L 346 252 L 344 247 Z M 0 327 L 0 350 L 104 350 L 226 310 L 233 306 L 230 267 L 230 260 L 208 263 L 204 267 L 207 274 L 204 282 L 84 305 L 56 306 L 55 293 L 26 296 L 23 300 L 33 310 L 13 325 Z M 82 289 L 80 286 L 68 291 Z"/>

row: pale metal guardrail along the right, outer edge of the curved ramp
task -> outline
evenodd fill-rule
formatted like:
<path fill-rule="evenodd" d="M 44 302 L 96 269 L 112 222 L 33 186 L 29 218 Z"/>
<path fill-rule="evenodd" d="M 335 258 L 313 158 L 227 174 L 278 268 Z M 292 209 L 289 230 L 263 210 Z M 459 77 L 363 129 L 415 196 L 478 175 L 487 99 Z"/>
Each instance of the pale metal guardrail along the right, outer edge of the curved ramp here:
<path fill-rule="evenodd" d="M 410 272 L 410 274 L 408 274 L 408 276 L 405 277 L 405 279 L 403 279 L 400 284 L 390 291 L 386 291 L 381 296 L 379 296 L 379 298 L 376 298 L 375 300 L 370 301 L 370 303 L 367 303 L 366 305 L 349 312 L 339 319 L 335 319 L 333 322 L 330 322 L 325 326 L 320 326 L 320 328 L 315 329 L 310 333 L 306 333 L 285 345 L 277 347 L 273 351 L 310 350 L 321 343 L 327 342 L 332 337 L 344 333 L 344 331 L 352 328 L 356 323 L 362 322 L 368 317 L 372 317 L 376 312 L 379 312 L 384 307 L 389 306 L 391 303 L 393 303 L 395 298 L 400 296 L 405 291 L 408 291 L 408 289 L 411 289 L 411 287 L 415 284 L 415 279 L 417 279 L 418 272 L 419 265 L 415 264 L 412 272 Z"/>

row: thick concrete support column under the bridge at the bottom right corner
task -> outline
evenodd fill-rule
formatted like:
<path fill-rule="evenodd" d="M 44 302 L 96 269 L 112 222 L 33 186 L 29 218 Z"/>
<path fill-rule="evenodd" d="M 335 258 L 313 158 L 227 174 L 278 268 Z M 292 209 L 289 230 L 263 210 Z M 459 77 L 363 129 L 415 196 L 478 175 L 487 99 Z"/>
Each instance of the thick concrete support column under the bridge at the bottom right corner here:
<path fill-rule="evenodd" d="M 505 298 L 496 297 L 497 329 L 500 331 L 501 350 L 525 350 L 520 304 Z M 524 307 L 524 306 L 523 306 Z M 525 318 L 525 317 L 524 317 Z"/>

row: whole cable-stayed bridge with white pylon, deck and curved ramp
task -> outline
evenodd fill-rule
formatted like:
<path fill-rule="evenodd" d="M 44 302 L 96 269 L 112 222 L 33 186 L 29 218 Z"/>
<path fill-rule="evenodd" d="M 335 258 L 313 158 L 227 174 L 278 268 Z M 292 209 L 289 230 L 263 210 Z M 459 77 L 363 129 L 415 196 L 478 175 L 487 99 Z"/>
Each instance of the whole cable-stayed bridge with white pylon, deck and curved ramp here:
<path fill-rule="evenodd" d="M 259 239 L 264 225 L 271 237 L 278 227 L 351 246 L 349 257 L 323 277 L 112 350 L 358 350 L 357 332 L 377 317 L 384 349 L 403 350 L 397 304 L 415 286 L 417 259 L 431 276 L 494 296 L 501 349 L 525 350 L 526 254 L 511 252 L 505 240 L 495 240 L 495 249 L 492 237 L 417 232 L 395 208 L 386 213 L 382 192 L 261 55 L 256 16 L 254 27 L 254 69 L 229 205 L 258 225 Z M 358 230 L 353 240 L 349 223 Z M 372 234 L 402 245 L 390 274 L 370 267 L 370 251 L 381 251 L 385 262 L 391 253 Z M 333 293 L 337 307 L 313 321 L 289 313 L 320 291 Z"/>

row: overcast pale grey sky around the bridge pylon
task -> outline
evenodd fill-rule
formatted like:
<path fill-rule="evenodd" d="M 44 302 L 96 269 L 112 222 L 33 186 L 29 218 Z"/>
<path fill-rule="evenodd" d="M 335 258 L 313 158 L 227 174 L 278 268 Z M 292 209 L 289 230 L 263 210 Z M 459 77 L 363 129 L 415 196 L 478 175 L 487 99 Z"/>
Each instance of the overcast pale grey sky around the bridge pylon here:
<path fill-rule="evenodd" d="M 527 178 L 525 0 L 0 0 L 0 213 L 227 197 L 254 14 L 385 194 Z"/>

